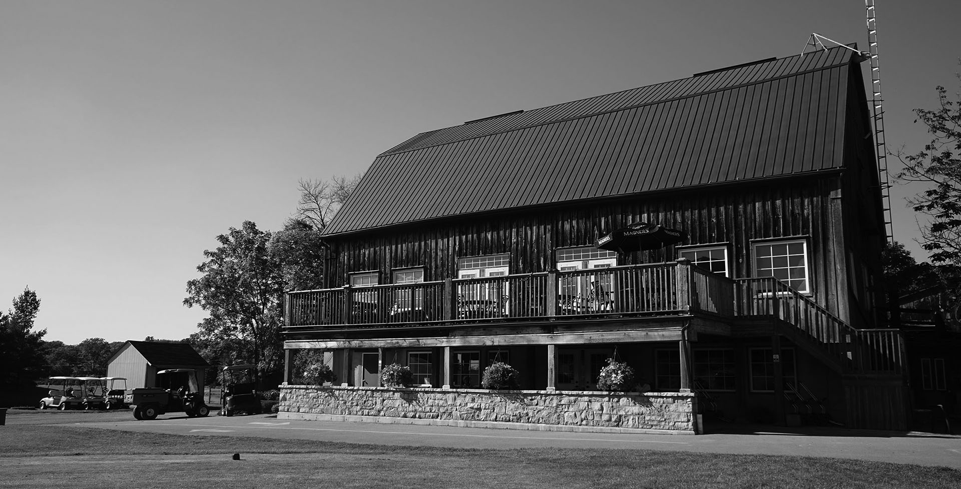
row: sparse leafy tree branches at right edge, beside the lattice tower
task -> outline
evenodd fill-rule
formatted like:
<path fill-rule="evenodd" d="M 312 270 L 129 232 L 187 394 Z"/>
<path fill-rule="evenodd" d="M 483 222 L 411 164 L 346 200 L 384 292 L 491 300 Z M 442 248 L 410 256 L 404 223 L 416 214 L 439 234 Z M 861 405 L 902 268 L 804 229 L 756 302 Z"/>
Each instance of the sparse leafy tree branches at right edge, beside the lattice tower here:
<path fill-rule="evenodd" d="M 914 155 L 895 154 L 904 165 L 898 179 L 928 186 L 908 203 L 929 217 L 921 225 L 921 245 L 931 260 L 961 265 L 961 94 L 951 101 L 944 86 L 936 90 L 938 109 L 914 110 L 915 123 L 926 126 L 931 142 Z"/>

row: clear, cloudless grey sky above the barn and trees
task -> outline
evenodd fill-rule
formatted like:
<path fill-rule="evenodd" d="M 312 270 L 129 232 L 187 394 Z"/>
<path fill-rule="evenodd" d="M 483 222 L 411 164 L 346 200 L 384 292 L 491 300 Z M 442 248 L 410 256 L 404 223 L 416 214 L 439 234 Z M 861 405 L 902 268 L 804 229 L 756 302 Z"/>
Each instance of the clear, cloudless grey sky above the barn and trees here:
<path fill-rule="evenodd" d="M 956 91 L 961 2 L 877 0 L 889 148 Z M 46 339 L 179 339 L 214 236 L 423 131 L 801 53 L 861 0 L 0 0 L 0 308 Z M 869 77 L 870 79 L 870 77 Z M 870 85 L 870 84 L 869 84 Z M 895 234 L 916 257 L 910 189 Z"/>

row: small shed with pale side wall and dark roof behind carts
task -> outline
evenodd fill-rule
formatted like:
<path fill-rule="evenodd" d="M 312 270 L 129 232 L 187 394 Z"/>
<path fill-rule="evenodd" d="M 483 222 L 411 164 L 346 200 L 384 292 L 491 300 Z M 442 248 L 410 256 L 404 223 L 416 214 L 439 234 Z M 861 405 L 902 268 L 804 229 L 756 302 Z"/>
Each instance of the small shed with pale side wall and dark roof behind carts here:
<path fill-rule="evenodd" d="M 207 360 L 186 343 L 127 341 L 111 355 L 107 376 L 126 378 L 128 389 L 185 386 L 191 392 L 203 392 L 209 367 Z M 165 374 L 158 379 L 157 372 L 166 369 L 196 369 L 197 385 L 186 373 Z"/>

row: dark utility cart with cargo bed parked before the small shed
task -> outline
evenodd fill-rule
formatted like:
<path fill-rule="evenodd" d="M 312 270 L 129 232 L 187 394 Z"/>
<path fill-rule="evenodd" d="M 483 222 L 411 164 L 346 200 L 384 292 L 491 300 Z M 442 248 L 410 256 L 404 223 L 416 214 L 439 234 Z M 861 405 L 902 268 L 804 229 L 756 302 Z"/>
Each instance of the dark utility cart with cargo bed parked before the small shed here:
<path fill-rule="evenodd" d="M 157 419 L 160 414 L 168 412 L 183 411 L 190 418 L 195 416 L 207 416 L 210 408 L 204 403 L 204 397 L 200 393 L 197 383 L 197 371 L 194 369 L 167 369 L 157 373 L 158 376 L 164 374 L 188 374 L 187 385 L 181 385 L 174 389 L 163 389 L 160 387 L 145 387 L 134 389 L 124 396 L 124 403 L 134 408 L 134 417 L 138 420 Z M 190 390 L 187 390 L 187 389 Z"/>

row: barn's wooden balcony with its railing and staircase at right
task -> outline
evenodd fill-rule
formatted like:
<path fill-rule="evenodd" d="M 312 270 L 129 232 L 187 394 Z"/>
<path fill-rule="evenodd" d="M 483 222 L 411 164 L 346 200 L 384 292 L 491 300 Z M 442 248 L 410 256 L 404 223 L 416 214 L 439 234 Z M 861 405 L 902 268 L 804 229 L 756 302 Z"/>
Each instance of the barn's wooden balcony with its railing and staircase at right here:
<path fill-rule="evenodd" d="M 899 330 L 855 330 L 781 281 L 738 279 L 674 263 L 296 291 L 287 334 L 406 326 L 481 326 L 592 318 L 700 316 L 734 325 L 771 320 L 845 372 L 900 374 Z"/>

